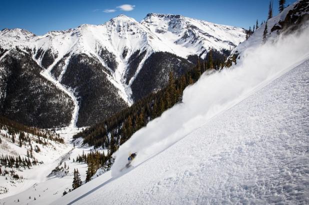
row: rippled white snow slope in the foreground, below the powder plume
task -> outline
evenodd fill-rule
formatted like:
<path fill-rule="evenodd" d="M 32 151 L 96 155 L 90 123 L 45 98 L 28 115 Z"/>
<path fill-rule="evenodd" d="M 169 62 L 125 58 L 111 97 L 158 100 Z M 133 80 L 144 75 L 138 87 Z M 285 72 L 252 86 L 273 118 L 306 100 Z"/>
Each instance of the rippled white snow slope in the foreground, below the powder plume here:
<path fill-rule="evenodd" d="M 89 191 L 90 181 L 84 197 L 80 188 L 61 202 L 308 203 L 308 68 L 306 60 L 131 171 L 103 174 L 96 185 L 109 183 Z"/>

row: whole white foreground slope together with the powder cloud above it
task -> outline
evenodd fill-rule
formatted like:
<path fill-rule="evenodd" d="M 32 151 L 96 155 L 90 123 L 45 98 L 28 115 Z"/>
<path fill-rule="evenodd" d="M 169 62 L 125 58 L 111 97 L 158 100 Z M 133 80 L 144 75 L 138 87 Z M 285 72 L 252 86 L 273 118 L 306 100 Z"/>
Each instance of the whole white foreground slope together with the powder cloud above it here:
<path fill-rule="evenodd" d="M 110 173 L 53 204 L 308 203 L 308 35 L 270 38 L 202 75 L 119 147 Z"/>

